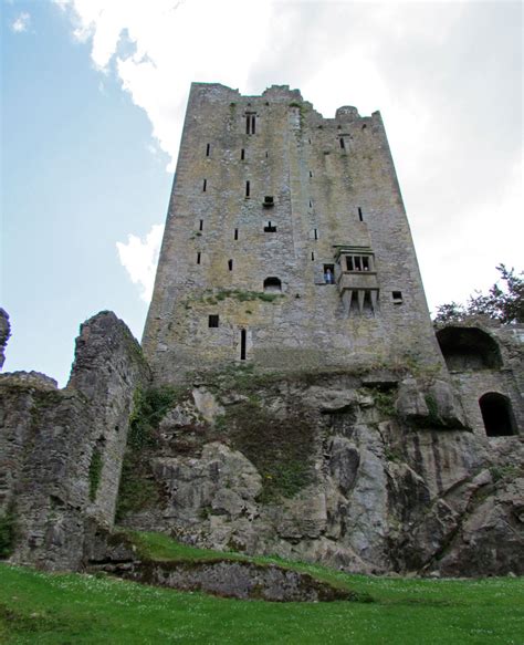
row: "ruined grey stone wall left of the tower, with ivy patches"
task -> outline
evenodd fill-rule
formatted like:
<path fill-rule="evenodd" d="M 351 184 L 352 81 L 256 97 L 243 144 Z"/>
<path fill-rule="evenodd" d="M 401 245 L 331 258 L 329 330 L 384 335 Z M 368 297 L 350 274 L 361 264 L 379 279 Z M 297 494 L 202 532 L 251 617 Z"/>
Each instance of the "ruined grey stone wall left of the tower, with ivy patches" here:
<path fill-rule="evenodd" d="M 13 519 L 13 561 L 77 569 L 86 523 L 113 526 L 133 394 L 148 377 L 111 312 L 82 325 L 66 388 L 0 376 L 0 516 Z"/>

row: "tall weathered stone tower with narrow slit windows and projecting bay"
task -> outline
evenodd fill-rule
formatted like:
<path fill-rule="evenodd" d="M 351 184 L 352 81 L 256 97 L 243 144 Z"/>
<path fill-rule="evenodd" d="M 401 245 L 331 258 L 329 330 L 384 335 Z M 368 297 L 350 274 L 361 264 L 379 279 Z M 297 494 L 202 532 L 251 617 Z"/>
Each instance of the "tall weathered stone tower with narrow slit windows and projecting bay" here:
<path fill-rule="evenodd" d="M 167 382 L 443 365 L 380 114 L 193 83 L 143 344 Z"/>

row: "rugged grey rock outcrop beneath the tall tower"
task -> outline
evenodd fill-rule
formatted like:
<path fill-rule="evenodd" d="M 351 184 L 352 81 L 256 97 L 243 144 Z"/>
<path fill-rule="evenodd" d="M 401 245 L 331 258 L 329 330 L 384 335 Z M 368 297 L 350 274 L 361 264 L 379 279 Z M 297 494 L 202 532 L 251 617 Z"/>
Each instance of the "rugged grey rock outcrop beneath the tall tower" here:
<path fill-rule="evenodd" d="M 348 571 L 523 573 L 520 437 L 473 433 L 443 381 L 376 383 L 219 378 L 212 422 L 188 388 L 144 455 L 161 502 L 124 523 Z"/>

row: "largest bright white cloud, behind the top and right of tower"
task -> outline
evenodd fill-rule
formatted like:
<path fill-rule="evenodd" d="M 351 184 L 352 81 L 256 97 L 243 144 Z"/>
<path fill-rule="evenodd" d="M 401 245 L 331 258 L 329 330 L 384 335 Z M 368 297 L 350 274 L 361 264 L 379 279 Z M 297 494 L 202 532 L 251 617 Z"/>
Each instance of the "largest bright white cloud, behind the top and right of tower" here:
<path fill-rule="evenodd" d="M 517 263 L 518 2 L 54 1 L 146 112 L 168 171 L 191 81 L 289 83 L 325 116 L 381 111 L 433 304 Z"/>

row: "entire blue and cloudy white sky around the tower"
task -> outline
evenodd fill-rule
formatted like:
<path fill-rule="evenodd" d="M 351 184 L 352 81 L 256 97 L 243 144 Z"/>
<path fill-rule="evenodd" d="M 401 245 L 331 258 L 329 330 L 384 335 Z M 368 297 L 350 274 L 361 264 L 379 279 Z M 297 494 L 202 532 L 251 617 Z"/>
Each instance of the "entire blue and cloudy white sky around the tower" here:
<path fill-rule="evenodd" d="M 6 370 L 142 335 L 191 81 L 380 110 L 431 309 L 523 267 L 521 2 L 0 1 Z"/>

